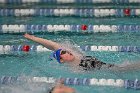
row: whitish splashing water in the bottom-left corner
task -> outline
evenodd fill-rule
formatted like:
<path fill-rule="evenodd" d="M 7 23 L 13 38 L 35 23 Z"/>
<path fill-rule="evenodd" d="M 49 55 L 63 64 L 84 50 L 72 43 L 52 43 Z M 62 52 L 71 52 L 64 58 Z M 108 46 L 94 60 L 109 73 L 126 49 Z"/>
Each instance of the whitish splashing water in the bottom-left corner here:
<path fill-rule="evenodd" d="M 52 84 L 17 81 L 12 84 L 0 85 L 0 93 L 47 93 Z"/>

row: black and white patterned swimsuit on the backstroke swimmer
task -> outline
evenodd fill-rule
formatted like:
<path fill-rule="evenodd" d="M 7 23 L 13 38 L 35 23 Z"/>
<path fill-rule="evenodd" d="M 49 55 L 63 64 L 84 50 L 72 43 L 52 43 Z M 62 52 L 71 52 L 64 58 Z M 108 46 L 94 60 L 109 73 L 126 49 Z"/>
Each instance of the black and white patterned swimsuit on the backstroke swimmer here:
<path fill-rule="evenodd" d="M 84 70 L 91 70 L 91 69 L 101 69 L 103 66 L 110 68 L 110 67 L 113 67 L 114 64 L 107 64 L 107 63 L 101 62 L 92 56 L 84 56 L 81 59 L 79 66 L 82 67 Z"/>

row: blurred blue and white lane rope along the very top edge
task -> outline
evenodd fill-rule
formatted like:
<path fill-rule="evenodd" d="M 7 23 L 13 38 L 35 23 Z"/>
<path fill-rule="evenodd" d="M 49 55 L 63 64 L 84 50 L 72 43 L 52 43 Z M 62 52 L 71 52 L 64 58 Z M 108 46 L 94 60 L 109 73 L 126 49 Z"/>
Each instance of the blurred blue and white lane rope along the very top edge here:
<path fill-rule="evenodd" d="M 140 3 L 139 0 L 0 0 L 4 4 L 24 4 L 24 3 L 113 3 L 113 4 L 129 4 Z"/>

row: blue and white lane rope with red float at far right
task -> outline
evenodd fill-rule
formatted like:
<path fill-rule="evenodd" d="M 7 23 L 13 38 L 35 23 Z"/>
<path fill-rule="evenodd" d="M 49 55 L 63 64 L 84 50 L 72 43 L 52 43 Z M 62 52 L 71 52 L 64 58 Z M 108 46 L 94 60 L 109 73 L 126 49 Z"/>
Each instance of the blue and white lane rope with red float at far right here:
<path fill-rule="evenodd" d="M 139 17 L 140 9 L 0 9 L 0 16 Z"/>

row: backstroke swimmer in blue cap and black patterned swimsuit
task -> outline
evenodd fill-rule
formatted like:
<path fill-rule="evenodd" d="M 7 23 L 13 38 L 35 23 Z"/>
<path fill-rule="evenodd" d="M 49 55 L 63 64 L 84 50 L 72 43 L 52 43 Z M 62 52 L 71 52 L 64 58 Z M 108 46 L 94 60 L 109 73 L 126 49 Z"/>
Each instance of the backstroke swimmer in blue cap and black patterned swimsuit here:
<path fill-rule="evenodd" d="M 58 63 L 68 63 L 73 66 L 79 66 L 83 70 L 93 70 L 101 68 L 111 68 L 114 67 L 114 64 L 107 64 L 99 61 L 97 58 L 92 56 L 82 56 L 81 54 L 75 54 L 70 49 L 66 49 L 61 44 L 53 42 L 51 40 L 46 40 L 43 38 L 35 37 L 33 35 L 25 34 L 25 38 L 42 44 L 46 48 L 53 50 L 53 57 L 57 60 Z"/>

